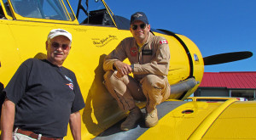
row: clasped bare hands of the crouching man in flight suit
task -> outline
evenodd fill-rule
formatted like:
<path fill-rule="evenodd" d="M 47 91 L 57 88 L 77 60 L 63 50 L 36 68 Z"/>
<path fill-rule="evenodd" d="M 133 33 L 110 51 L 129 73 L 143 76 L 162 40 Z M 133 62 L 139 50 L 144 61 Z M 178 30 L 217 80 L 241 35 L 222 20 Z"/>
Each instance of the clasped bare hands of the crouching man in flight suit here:
<path fill-rule="evenodd" d="M 115 61 L 113 65 L 118 70 L 118 75 L 120 77 L 129 75 L 132 72 L 131 66 L 129 64 L 125 64 L 124 62 Z"/>

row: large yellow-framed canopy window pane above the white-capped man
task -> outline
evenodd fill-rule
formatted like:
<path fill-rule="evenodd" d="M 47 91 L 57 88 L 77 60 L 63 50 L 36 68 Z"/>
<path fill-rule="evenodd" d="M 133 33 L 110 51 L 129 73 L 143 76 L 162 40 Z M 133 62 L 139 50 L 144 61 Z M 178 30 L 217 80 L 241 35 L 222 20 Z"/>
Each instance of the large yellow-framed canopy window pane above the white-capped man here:
<path fill-rule="evenodd" d="M 11 3 L 15 12 L 23 17 L 70 20 L 67 12 L 71 11 L 71 9 L 67 7 L 66 10 L 66 7 L 60 0 L 11 0 Z"/>

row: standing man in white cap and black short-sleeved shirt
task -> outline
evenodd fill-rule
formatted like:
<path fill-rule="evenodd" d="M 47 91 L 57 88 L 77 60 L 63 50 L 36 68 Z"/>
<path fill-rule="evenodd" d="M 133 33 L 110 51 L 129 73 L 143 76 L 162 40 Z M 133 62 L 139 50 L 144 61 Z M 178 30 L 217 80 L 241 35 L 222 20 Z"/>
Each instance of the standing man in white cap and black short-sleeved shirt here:
<path fill-rule="evenodd" d="M 27 59 L 9 81 L 2 108 L 2 139 L 61 140 L 69 122 L 73 139 L 81 139 L 84 99 L 73 71 L 63 67 L 72 35 L 49 32 L 47 59 Z"/>

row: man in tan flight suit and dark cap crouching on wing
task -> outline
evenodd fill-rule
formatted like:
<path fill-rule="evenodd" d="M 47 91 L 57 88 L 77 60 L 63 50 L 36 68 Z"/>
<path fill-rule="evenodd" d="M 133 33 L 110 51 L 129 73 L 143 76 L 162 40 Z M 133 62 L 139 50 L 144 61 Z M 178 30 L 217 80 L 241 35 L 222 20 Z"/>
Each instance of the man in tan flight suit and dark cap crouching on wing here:
<path fill-rule="evenodd" d="M 130 31 L 104 59 L 105 85 L 119 104 L 119 108 L 130 111 L 121 124 L 122 131 L 137 125 L 143 116 L 135 100 L 147 101 L 145 125 L 158 123 L 156 105 L 170 96 L 171 88 L 167 80 L 170 50 L 167 40 L 150 32 L 148 18 L 143 12 L 131 15 Z M 128 58 L 131 65 L 123 61 Z M 128 74 L 132 73 L 133 77 Z"/>

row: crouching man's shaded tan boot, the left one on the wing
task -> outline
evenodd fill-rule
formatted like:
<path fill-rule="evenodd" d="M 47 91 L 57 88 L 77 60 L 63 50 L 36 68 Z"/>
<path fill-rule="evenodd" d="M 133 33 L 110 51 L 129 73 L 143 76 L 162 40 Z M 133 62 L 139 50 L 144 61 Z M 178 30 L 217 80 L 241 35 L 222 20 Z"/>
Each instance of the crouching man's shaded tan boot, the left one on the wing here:
<path fill-rule="evenodd" d="M 134 128 L 137 125 L 138 120 L 140 120 L 142 116 L 143 113 L 138 107 L 131 109 L 126 120 L 121 124 L 121 130 L 126 132 Z"/>

